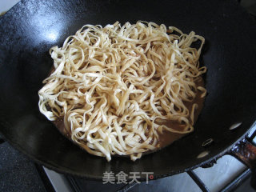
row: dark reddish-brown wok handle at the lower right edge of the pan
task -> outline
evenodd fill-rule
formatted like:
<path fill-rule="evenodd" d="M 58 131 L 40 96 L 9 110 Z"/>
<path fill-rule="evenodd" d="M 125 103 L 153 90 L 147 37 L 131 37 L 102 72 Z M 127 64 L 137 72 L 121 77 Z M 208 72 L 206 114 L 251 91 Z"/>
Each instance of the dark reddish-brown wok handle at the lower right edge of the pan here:
<path fill-rule="evenodd" d="M 250 185 L 256 190 L 256 146 L 248 138 L 244 138 L 232 147 L 230 154 L 250 167 L 252 171 Z"/>

